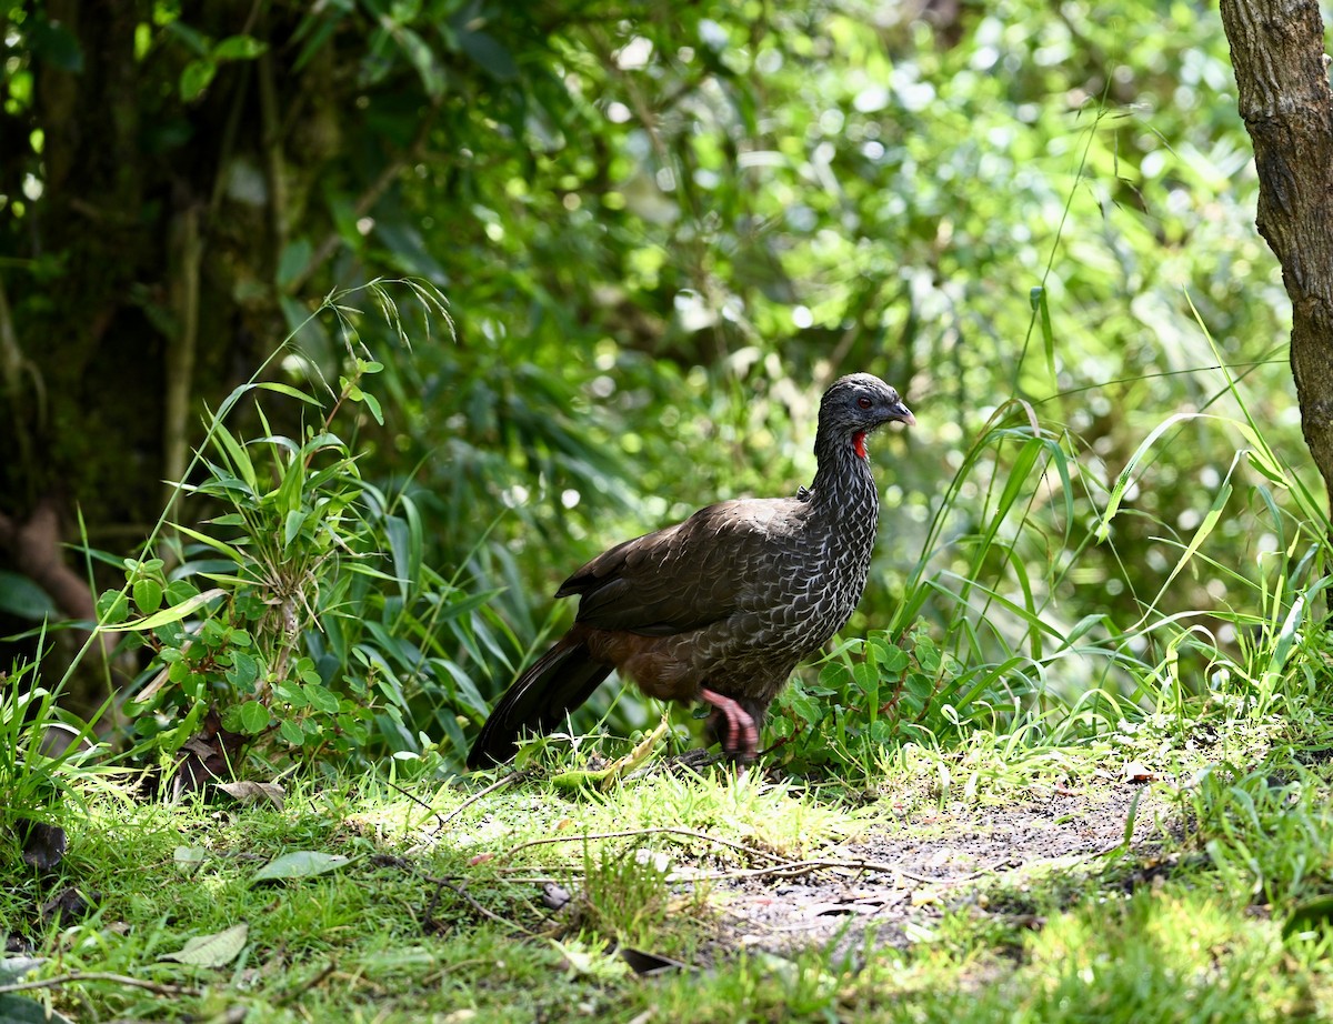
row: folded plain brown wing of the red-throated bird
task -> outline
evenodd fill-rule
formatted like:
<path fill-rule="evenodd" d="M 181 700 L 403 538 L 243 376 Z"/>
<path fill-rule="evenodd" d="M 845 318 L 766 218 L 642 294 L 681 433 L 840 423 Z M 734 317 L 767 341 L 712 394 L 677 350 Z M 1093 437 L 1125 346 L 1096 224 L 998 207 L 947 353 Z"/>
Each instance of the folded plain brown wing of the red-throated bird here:
<path fill-rule="evenodd" d="M 556 596 L 581 595 L 577 621 L 601 629 L 649 636 L 701 629 L 742 607 L 765 555 L 805 508 L 793 499 L 709 505 L 599 555 Z"/>

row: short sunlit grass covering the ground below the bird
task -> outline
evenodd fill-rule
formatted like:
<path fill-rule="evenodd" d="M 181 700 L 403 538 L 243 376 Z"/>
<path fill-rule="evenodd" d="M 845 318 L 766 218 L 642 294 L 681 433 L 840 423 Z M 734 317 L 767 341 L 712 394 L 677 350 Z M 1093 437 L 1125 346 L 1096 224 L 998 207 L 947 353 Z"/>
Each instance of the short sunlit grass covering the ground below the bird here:
<path fill-rule="evenodd" d="M 1190 711 L 1184 731 L 1158 716 L 1060 747 L 980 731 L 954 749 L 901 747 L 857 800 L 729 771 L 605 795 L 535 772 L 477 799 L 475 784 L 300 780 L 281 809 L 89 792 L 57 871 L 11 872 L 0 920 L 45 957 L 25 980 L 51 987 L 24 997 L 89 1021 L 1318 1019 L 1333 995 L 1328 731 L 1218 701 Z M 969 815 L 1002 823 L 1057 789 L 1093 804 L 1128 785 L 1113 777 L 1126 761 L 1158 779 L 1150 843 L 958 888 L 902 877 L 920 913 L 901 935 L 780 953 L 737 940 L 721 879 L 845 859 L 885 829 L 948 845 Z M 348 861 L 256 883 L 293 851 Z M 818 865 L 801 877 L 873 880 Z M 568 903 L 548 907 L 543 883 Z M 91 912 L 43 920 L 71 887 Z M 161 959 L 243 921 L 224 964 Z M 686 969 L 637 976 L 619 945 Z"/>

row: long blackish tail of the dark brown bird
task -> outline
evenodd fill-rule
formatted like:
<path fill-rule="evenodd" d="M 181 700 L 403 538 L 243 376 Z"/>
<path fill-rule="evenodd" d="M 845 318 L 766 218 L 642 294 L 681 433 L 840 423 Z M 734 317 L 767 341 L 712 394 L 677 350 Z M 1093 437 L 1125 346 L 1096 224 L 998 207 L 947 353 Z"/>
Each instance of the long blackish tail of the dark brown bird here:
<path fill-rule="evenodd" d="M 500 697 L 468 752 L 468 768 L 508 761 L 525 731 L 551 732 L 592 696 L 612 668 L 593 660 L 581 640 L 561 639 Z"/>

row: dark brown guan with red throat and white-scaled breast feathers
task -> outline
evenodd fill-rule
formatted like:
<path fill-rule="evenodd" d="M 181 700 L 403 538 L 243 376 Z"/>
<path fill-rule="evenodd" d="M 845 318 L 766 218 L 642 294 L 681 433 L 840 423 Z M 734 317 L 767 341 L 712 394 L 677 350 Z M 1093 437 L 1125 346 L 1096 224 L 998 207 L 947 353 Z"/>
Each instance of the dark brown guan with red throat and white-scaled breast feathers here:
<path fill-rule="evenodd" d="M 468 767 L 508 760 L 525 732 L 549 732 L 620 669 L 663 700 L 714 707 L 712 733 L 754 759 L 769 703 L 801 659 L 852 616 L 880 517 L 865 436 L 916 417 L 869 373 L 820 403 L 814 483 L 796 497 L 738 499 L 625 541 L 564 581 L 579 613 L 481 727 Z"/>

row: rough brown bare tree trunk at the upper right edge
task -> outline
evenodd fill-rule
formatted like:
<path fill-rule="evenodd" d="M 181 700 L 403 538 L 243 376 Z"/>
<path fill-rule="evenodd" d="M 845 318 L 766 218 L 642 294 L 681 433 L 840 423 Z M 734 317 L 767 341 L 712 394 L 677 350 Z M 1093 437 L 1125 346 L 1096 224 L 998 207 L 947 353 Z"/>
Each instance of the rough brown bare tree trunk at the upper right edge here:
<path fill-rule="evenodd" d="M 1292 299 L 1301 429 L 1333 508 L 1333 91 L 1314 0 L 1221 0 L 1254 143 L 1260 235 Z"/>

